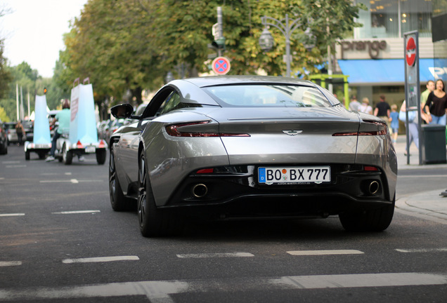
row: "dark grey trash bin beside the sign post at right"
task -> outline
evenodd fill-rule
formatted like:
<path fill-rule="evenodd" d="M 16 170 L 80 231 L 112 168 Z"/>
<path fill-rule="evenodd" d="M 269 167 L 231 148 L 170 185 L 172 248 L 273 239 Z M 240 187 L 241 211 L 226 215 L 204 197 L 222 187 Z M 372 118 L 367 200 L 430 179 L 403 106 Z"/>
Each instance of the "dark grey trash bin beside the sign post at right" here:
<path fill-rule="evenodd" d="M 447 163 L 446 126 L 425 124 L 422 126 L 422 164 Z"/>

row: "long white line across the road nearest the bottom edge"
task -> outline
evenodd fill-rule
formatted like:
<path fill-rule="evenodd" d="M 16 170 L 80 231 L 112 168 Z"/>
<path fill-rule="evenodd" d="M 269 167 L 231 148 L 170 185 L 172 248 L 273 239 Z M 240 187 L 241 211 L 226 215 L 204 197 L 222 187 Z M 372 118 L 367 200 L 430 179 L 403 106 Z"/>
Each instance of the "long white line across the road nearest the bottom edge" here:
<path fill-rule="evenodd" d="M 0 289 L 0 301 L 23 302 L 37 299 L 122 297 L 145 295 L 150 302 L 170 303 L 170 295 L 187 292 L 235 292 L 249 290 L 299 290 L 318 288 L 371 288 L 417 285 L 447 285 L 447 274 L 386 273 L 275 278 L 221 278 L 188 281 L 138 281 L 74 285 L 59 288 Z"/>

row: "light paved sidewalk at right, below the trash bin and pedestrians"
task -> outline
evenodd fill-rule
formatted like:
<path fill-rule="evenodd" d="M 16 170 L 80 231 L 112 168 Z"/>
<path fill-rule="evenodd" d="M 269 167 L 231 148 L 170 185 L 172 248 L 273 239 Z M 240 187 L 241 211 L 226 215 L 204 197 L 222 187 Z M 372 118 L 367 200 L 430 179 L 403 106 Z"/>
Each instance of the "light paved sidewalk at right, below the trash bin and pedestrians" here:
<path fill-rule="evenodd" d="M 397 154 L 399 171 L 408 169 L 439 168 L 446 171 L 447 164 L 425 164 L 419 165 L 419 150 L 413 143 L 410 146 L 410 164 L 407 164 L 407 156 L 404 155 L 406 136 L 400 135 L 394 145 Z M 423 160 L 423 159 L 422 159 Z M 439 223 L 447 224 L 447 197 L 441 196 L 441 192 L 447 187 L 436 191 L 425 191 L 413 196 L 396 197 L 396 209 L 401 213 L 423 217 Z"/>

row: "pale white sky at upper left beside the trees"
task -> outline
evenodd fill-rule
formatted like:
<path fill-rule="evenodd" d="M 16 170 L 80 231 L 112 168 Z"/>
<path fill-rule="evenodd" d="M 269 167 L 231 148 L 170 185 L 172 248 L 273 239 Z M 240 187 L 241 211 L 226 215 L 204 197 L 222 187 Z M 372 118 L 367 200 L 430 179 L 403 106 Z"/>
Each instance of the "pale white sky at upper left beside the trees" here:
<path fill-rule="evenodd" d="M 0 37 L 10 66 L 27 62 L 40 76 L 52 77 L 59 50 L 65 50 L 63 34 L 70 20 L 81 15 L 88 0 L 0 0 Z"/>

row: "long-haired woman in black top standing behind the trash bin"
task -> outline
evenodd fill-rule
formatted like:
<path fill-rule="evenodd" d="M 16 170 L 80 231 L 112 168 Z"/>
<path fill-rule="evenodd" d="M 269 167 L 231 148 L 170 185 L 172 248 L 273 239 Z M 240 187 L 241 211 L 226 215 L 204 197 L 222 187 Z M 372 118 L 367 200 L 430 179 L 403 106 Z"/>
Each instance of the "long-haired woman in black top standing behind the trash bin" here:
<path fill-rule="evenodd" d="M 447 95 L 441 79 L 436 80 L 436 88 L 427 97 L 425 112 L 432 116 L 430 124 L 446 125 Z"/>

